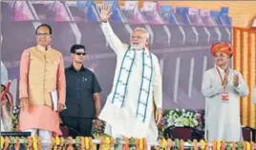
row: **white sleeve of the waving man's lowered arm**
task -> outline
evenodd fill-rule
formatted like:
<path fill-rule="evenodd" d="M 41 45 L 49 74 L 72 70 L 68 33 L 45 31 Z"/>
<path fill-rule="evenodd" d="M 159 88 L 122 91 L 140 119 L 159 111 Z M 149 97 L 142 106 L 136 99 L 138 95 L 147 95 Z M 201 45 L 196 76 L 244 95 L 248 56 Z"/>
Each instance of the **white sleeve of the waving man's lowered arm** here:
<path fill-rule="evenodd" d="M 162 108 L 162 79 L 160 74 L 160 63 L 156 56 L 153 57 L 153 100 L 157 108 Z"/>

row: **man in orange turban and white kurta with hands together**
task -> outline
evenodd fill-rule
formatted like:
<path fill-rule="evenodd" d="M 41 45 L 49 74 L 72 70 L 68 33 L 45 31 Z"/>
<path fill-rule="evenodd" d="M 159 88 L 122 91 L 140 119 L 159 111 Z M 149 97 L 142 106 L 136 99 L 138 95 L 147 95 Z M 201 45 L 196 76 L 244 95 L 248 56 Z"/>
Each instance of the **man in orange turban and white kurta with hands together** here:
<path fill-rule="evenodd" d="M 205 97 L 205 139 L 207 141 L 242 141 L 240 97 L 248 95 L 241 73 L 228 67 L 233 48 L 228 43 L 211 47 L 215 66 L 203 74 Z"/>

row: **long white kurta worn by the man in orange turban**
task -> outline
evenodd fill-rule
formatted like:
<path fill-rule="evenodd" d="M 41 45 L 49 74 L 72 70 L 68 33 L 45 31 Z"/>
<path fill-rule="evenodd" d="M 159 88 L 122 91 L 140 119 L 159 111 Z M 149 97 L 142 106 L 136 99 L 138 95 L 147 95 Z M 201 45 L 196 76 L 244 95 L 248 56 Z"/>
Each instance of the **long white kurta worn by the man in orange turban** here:
<path fill-rule="evenodd" d="M 216 66 L 217 67 L 217 66 Z M 203 74 L 202 92 L 205 97 L 205 139 L 208 141 L 242 141 L 240 123 L 240 96 L 248 95 L 248 87 L 239 71 L 229 69 L 227 91 L 229 102 L 222 102 L 222 80 L 216 67 Z M 224 70 L 218 67 L 224 78 Z M 239 85 L 233 84 L 233 77 L 239 76 Z"/>

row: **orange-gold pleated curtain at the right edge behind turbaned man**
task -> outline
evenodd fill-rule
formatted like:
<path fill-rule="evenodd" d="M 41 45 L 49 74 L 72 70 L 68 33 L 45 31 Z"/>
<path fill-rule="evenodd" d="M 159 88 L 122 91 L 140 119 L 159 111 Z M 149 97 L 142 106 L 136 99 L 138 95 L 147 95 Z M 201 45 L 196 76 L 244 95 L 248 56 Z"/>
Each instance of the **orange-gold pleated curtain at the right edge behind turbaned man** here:
<path fill-rule="evenodd" d="M 256 30 L 234 27 L 233 47 L 233 66 L 241 71 L 249 88 L 249 95 L 240 101 L 241 123 L 255 128 L 256 106 L 252 103 L 251 92 L 256 83 Z"/>

